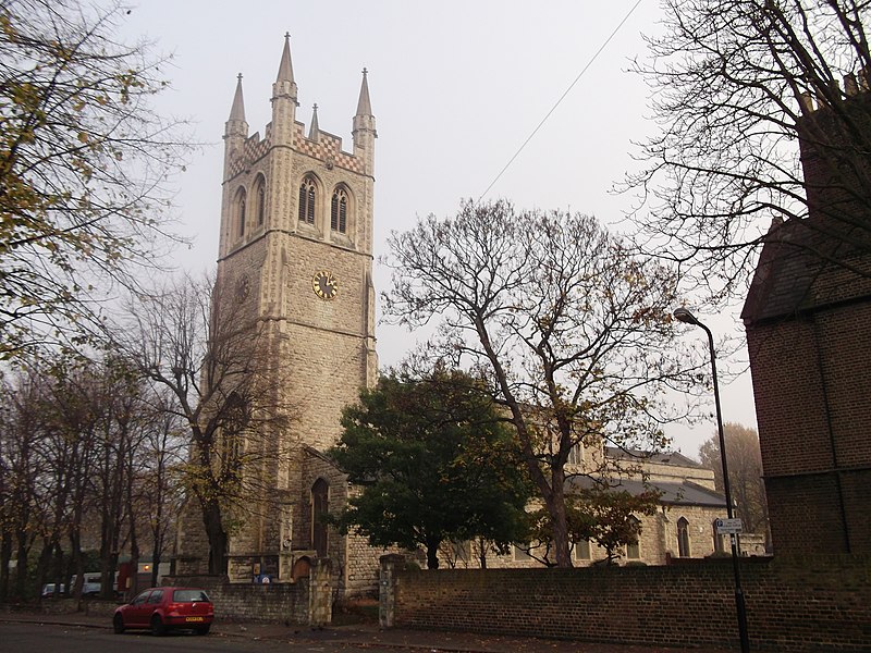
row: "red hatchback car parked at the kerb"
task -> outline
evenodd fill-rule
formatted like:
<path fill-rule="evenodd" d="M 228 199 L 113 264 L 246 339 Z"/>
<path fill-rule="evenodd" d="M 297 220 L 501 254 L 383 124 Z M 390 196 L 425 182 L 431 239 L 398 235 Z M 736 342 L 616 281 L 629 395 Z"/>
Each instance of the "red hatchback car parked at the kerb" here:
<path fill-rule="evenodd" d="M 148 628 L 163 634 L 171 628 L 208 634 L 214 607 L 206 590 L 198 588 L 151 588 L 115 611 L 112 626 L 121 634 L 127 628 Z"/>

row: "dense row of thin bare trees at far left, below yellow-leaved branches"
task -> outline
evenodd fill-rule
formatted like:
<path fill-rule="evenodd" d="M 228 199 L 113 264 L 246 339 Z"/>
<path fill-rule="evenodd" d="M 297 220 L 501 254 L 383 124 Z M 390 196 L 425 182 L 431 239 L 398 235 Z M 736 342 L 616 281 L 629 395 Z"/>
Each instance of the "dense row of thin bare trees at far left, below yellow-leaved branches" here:
<path fill-rule="evenodd" d="M 69 590 L 81 593 L 89 571 L 83 543 L 93 538 L 99 542 L 103 594 L 112 596 L 119 554 L 125 545 L 135 549 L 137 523 L 149 521 L 152 512 L 142 494 L 154 491 L 150 500 L 165 501 L 173 492 L 165 470 L 169 445 L 155 454 L 154 465 L 150 457 L 165 418 L 149 403 L 150 392 L 130 362 L 115 356 L 88 360 L 59 354 L 7 375 L 0 552 L 8 569 L 14 550 L 19 569 L 8 593 L 24 597 L 35 543 L 41 545 L 37 587 L 47 578 L 69 587 L 75 575 Z M 170 440 L 164 434 L 164 444 Z M 167 509 L 155 508 L 158 515 Z M 157 544 L 164 546 L 165 528 L 154 528 Z"/>

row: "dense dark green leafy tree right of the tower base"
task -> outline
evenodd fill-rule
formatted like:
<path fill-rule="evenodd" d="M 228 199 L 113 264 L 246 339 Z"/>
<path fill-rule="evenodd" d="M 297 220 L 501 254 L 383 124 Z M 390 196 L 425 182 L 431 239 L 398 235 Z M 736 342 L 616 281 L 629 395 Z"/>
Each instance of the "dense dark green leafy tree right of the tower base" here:
<path fill-rule="evenodd" d="M 479 382 L 438 370 L 391 374 L 345 409 L 331 455 L 360 485 L 339 518 L 373 545 L 422 546 L 439 566 L 446 540 L 523 541 L 529 497 L 512 430 Z"/>

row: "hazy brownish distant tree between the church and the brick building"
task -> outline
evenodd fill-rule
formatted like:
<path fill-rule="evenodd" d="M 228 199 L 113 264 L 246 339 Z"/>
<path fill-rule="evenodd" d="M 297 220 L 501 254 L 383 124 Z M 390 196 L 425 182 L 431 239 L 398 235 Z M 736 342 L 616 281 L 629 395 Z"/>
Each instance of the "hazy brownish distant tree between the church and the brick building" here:
<path fill-rule="evenodd" d="M 768 504 L 762 481 L 762 453 L 759 434 L 735 422 L 723 424 L 726 441 L 726 463 L 732 495 L 745 532 L 764 533 L 768 538 Z M 723 461 L 720 456 L 720 436 L 714 433 L 699 447 L 702 465 L 714 471 L 714 483 L 723 492 Z"/>

